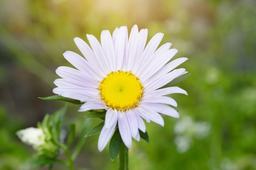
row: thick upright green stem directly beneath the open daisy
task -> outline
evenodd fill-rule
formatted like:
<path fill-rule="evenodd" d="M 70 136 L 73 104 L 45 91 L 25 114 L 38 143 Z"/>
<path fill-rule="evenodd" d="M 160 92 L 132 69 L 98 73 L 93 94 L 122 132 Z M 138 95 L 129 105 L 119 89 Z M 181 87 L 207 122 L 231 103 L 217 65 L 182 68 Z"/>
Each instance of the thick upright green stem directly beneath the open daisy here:
<path fill-rule="evenodd" d="M 119 167 L 118 170 L 128 170 L 128 148 L 124 142 L 121 144 L 119 151 Z"/>

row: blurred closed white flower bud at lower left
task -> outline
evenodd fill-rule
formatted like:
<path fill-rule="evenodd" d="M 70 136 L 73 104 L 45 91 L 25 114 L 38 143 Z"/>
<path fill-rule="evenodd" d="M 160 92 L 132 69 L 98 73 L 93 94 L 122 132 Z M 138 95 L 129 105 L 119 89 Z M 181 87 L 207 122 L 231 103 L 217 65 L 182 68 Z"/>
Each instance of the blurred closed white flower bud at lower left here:
<path fill-rule="evenodd" d="M 18 135 L 22 142 L 33 146 L 33 148 L 36 150 L 39 146 L 45 144 L 45 134 L 40 128 L 30 127 L 22 129 L 16 132 L 16 135 Z"/>

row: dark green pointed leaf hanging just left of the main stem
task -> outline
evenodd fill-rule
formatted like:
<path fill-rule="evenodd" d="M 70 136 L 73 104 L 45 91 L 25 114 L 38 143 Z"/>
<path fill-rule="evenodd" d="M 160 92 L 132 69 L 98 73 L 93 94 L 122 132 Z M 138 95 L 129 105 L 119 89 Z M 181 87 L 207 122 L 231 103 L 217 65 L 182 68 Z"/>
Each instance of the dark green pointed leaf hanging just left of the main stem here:
<path fill-rule="evenodd" d="M 111 161 L 114 161 L 117 155 L 119 154 L 120 148 L 122 144 L 122 139 L 119 133 L 119 129 L 115 130 L 114 135 L 112 136 L 109 144 L 109 152 Z"/>

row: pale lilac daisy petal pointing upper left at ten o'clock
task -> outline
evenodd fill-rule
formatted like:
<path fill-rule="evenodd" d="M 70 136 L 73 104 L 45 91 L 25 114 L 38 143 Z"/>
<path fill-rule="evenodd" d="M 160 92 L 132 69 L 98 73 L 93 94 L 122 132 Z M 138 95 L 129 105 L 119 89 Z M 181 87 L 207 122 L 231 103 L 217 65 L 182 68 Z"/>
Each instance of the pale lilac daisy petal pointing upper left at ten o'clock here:
<path fill-rule="evenodd" d="M 90 76 L 90 78 L 92 79 L 96 78 L 96 80 L 101 81 L 98 72 L 95 71 L 95 69 L 88 63 L 88 61 L 80 55 L 72 51 L 66 51 L 65 53 L 63 53 L 63 56 L 68 62 L 70 62 L 73 66 L 82 71 L 88 77 Z"/>

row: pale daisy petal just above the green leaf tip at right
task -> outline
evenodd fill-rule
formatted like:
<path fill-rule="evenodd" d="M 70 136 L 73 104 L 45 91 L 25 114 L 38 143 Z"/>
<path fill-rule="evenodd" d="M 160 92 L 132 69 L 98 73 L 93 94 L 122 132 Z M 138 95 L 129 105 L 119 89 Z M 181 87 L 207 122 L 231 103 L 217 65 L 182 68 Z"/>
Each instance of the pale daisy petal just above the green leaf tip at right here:
<path fill-rule="evenodd" d="M 145 91 L 149 92 L 149 91 L 153 91 L 157 88 L 160 88 L 160 87 L 166 85 L 168 82 L 171 82 L 176 77 L 179 77 L 185 73 L 186 72 L 185 72 L 184 68 L 175 69 L 175 70 L 171 71 L 170 73 L 167 73 L 166 75 L 155 80 L 154 82 L 145 83 L 144 84 Z"/>

